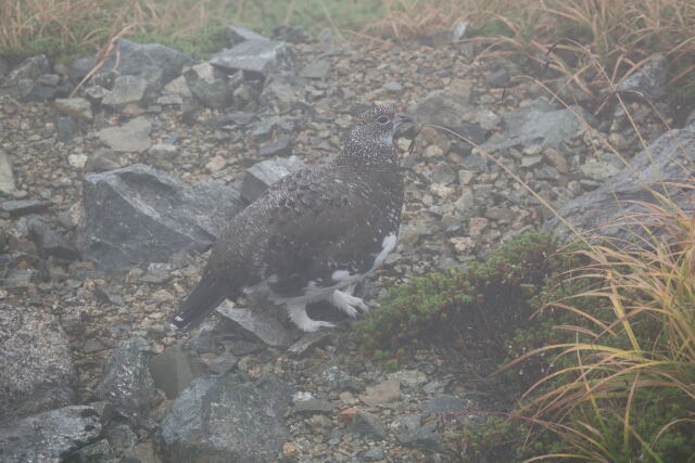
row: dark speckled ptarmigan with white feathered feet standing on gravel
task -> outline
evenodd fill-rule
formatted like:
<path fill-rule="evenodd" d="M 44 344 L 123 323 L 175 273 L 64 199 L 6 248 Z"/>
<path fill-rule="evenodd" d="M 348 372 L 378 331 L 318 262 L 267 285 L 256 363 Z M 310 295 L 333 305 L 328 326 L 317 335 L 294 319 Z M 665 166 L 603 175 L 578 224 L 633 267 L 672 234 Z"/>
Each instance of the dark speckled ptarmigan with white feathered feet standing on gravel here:
<path fill-rule="evenodd" d="M 394 137 L 412 126 L 407 114 L 372 106 L 332 160 L 271 184 L 220 233 L 172 327 L 193 327 L 223 300 L 256 291 L 304 332 L 334 326 L 311 319 L 308 304 L 328 300 L 352 318 L 368 310 L 352 293 L 396 245 L 403 179 Z"/>

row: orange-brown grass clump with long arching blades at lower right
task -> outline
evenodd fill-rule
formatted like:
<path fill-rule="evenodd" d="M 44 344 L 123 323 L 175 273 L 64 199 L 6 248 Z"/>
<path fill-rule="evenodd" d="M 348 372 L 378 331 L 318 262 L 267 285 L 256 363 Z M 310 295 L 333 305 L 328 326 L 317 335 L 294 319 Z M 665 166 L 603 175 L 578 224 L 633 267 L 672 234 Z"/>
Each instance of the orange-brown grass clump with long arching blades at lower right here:
<path fill-rule="evenodd" d="M 695 180 L 678 188 L 695 190 Z M 646 213 L 623 218 L 641 231 L 634 245 L 604 239 L 606 244 L 580 252 L 591 263 L 579 279 L 601 284 L 545 308 L 581 316 L 583 323 L 557 326 L 576 340 L 542 347 L 514 362 L 555 351 L 553 363 L 564 365 L 540 380 L 520 409 L 572 450 L 553 458 L 618 461 L 636 448 L 650 461 L 662 461 L 655 448 L 669 428 L 690 424 L 695 429 L 695 214 L 665 196 L 659 200 L 658 205 L 642 203 Z M 609 307 L 610 316 L 577 309 L 576 298 L 592 298 Z M 686 408 L 683 416 L 653 435 L 640 435 L 633 422 L 646 390 L 675 397 Z M 591 419 L 578 419 L 586 414 Z M 604 427 L 609 417 L 622 426 L 618 450 L 615 429 Z"/>

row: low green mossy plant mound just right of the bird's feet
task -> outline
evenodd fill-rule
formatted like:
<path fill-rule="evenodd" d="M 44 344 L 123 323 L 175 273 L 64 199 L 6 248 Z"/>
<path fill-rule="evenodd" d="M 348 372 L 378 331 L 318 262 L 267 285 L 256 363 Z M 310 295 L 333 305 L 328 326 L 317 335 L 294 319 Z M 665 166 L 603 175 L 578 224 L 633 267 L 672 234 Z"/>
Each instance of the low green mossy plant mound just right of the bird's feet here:
<path fill-rule="evenodd" d="M 485 262 L 416 278 L 392 288 L 379 308 L 353 325 L 352 337 L 368 353 L 393 352 L 456 335 L 480 317 L 507 320 L 511 327 L 519 319 L 514 308 L 533 295 L 557 266 L 556 250 L 549 235 L 527 232 Z"/>

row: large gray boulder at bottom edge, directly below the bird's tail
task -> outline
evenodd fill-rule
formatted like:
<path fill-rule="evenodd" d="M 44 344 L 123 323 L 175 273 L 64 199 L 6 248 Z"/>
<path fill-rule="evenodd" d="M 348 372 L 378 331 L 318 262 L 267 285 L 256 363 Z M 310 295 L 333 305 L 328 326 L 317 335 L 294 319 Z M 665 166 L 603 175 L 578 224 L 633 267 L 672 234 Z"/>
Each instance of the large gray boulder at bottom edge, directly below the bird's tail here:
<path fill-rule="evenodd" d="M 193 381 L 162 422 L 166 461 L 271 462 L 289 439 L 283 413 L 293 388 L 275 377 Z"/>

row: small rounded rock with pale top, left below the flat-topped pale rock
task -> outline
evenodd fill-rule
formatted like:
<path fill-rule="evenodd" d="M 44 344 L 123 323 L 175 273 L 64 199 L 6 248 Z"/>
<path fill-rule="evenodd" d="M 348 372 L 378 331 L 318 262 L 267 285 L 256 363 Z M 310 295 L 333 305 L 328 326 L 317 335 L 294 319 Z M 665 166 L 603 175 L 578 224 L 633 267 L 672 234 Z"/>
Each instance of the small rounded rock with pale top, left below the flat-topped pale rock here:
<path fill-rule="evenodd" d="M 201 63 L 186 69 L 186 83 L 191 93 L 206 107 L 225 108 L 231 105 L 240 78 L 230 79 L 210 63 Z"/>

